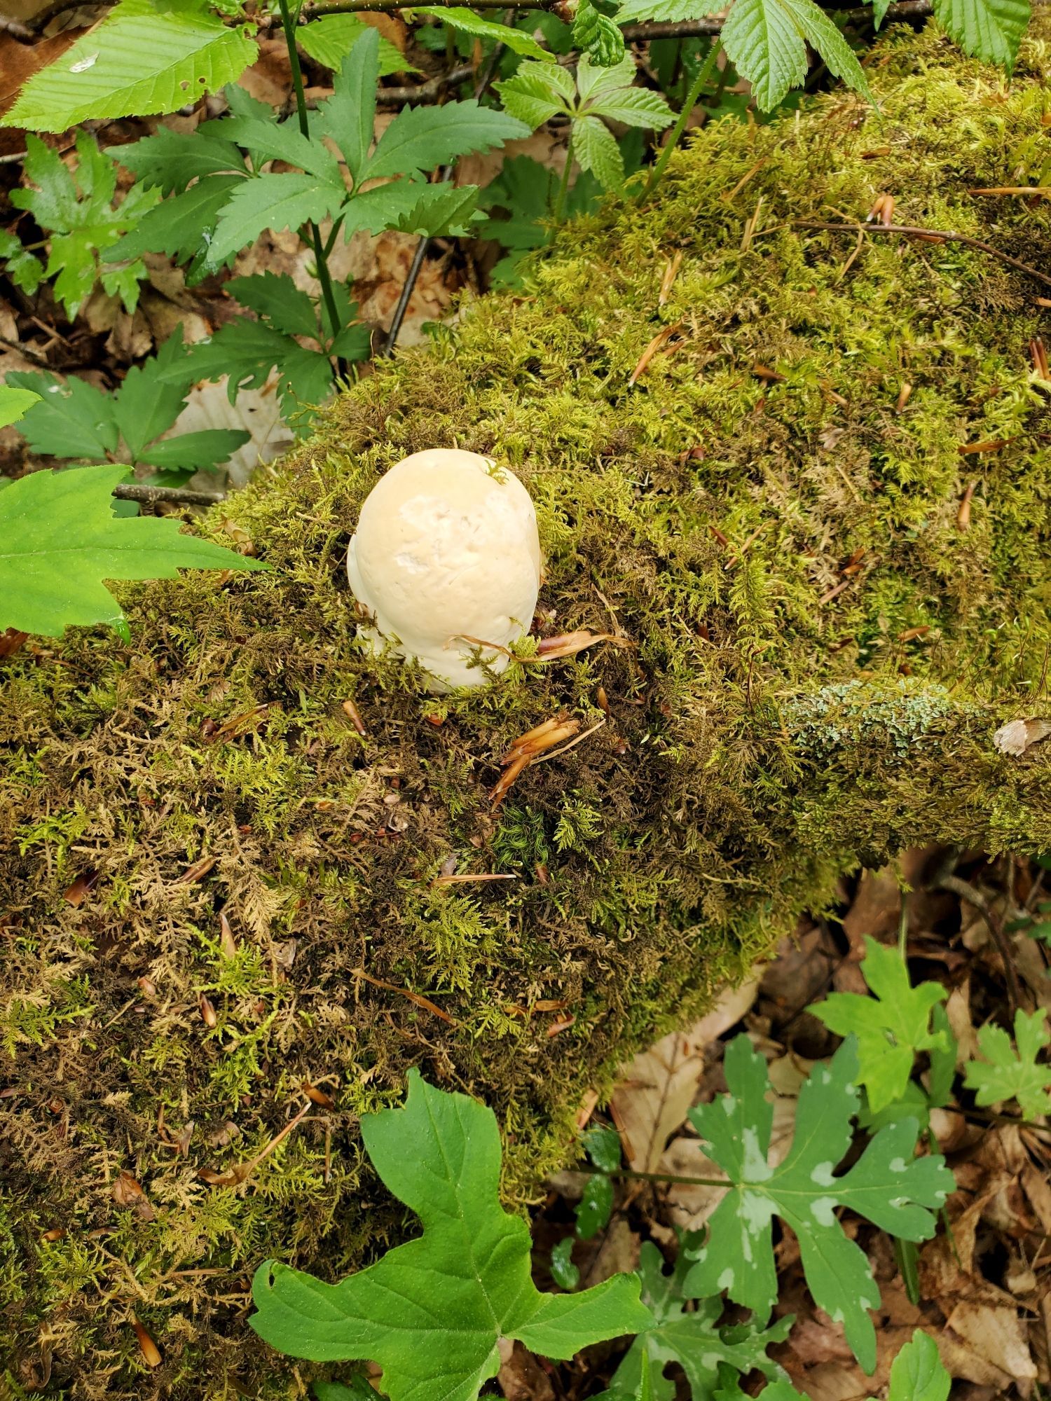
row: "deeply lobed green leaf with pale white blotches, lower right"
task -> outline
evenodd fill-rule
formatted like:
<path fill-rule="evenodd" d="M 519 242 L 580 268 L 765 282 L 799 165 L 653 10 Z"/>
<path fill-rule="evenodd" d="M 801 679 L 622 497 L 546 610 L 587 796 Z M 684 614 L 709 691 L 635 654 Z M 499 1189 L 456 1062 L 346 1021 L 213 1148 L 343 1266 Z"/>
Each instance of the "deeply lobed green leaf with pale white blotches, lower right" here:
<path fill-rule="evenodd" d="M 942 1157 L 914 1159 L 916 1121 L 901 1119 L 881 1128 L 855 1166 L 835 1175 L 851 1146 L 859 1103 L 852 1038 L 803 1084 L 792 1149 L 778 1167 L 768 1161 L 774 1107 L 767 1100 L 767 1063 L 747 1035 L 727 1047 L 726 1082 L 727 1096 L 689 1112 L 730 1189 L 708 1223 L 708 1240 L 685 1288 L 698 1299 L 724 1289 L 767 1318 L 778 1295 L 771 1222 L 781 1216 L 799 1237 L 814 1300 L 842 1323 L 858 1360 L 872 1372 L 876 1331 L 866 1310 L 879 1306 L 879 1289 L 835 1210 L 849 1206 L 901 1240 L 928 1240 L 935 1233 L 932 1210 L 953 1189 L 953 1174 Z"/>

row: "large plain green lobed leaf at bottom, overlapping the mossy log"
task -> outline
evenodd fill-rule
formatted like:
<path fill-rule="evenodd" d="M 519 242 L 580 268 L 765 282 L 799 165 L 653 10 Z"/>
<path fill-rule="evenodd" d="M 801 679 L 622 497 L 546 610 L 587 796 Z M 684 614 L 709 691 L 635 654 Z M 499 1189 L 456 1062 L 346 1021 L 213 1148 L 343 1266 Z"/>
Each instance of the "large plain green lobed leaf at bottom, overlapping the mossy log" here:
<path fill-rule="evenodd" d="M 405 1105 L 362 1118 L 377 1173 L 423 1234 L 338 1285 L 275 1261 L 252 1282 L 249 1323 L 272 1346 L 314 1362 L 369 1359 L 391 1401 L 475 1401 L 500 1365 L 500 1338 L 569 1358 L 650 1324 L 636 1275 L 579 1295 L 542 1295 L 530 1229 L 499 1201 L 492 1110 L 409 1070 Z"/>

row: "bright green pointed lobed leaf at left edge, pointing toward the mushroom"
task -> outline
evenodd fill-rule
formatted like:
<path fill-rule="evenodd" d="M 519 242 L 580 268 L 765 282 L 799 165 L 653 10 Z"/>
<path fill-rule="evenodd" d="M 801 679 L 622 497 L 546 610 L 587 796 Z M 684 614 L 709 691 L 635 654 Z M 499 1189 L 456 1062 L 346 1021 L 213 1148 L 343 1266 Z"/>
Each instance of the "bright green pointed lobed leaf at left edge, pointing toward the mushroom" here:
<path fill-rule="evenodd" d="M 69 626 L 125 625 L 104 579 L 268 567 L 184 535 L 174 520 L 115 517 L 111 493 L 126 474 L 111 464 L 32 472 L 0 493 L 0 630 L 60 637 Z"/>

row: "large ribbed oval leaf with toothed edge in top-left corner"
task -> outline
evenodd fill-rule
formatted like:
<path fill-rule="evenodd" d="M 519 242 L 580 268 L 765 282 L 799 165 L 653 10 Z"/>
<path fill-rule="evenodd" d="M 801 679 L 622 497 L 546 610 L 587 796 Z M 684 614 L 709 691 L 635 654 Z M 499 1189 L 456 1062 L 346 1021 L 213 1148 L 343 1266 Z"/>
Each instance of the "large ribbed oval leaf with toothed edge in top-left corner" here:
<path fill-rule="evenodd" d="M 64 132 L 88 120 L 175 112 L 233 83 L 256 55 L 247 25 L 227 27 L 200 6 L 121 0 L 29 78 L 0 125 Z"/>

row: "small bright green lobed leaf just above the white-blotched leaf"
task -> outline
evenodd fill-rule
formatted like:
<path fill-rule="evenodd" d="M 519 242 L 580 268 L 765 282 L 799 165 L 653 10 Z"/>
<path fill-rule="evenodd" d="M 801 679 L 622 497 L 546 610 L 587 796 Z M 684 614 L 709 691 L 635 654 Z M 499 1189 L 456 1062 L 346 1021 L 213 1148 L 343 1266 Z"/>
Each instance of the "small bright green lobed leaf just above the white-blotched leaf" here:
<path fill-rule="evenodd" d="M 937 982 L 912 988 L 905 960 L 897 948 L 866 939 L 862 974 L 873 992 L 834 992 L 811 1012 L 837 1035 L 858 1038 L 858 1083 L 869 1108 L 880 1110 L 900 1100 L 908 1087 L 918 1051 L 944 1051 L 944 1031 L 932 1028 L 930 1013 L 946 999 Z"/>

